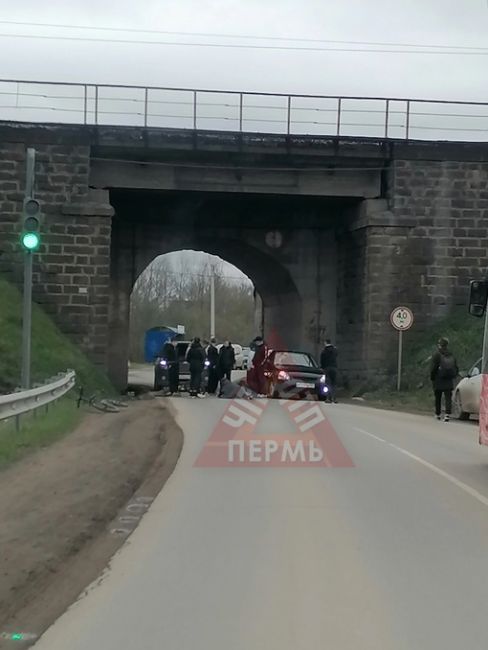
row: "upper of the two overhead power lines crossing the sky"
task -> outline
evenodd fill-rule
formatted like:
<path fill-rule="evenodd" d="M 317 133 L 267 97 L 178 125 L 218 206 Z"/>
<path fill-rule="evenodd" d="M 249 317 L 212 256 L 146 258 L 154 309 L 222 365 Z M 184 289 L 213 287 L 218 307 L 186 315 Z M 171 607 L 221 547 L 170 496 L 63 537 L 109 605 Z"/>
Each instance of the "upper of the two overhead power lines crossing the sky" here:
<path fill-rule="evenodd" d="M 447 50 L 467 50 L 467 51 L 487 51 L 487 47 L 467 46 L 467 45 L 445 45 L 430 43 L 394 43 L 388 41 L 356 41 L 356 40 L 339 40 L 325 38 L 308 38 L 293 36 L 259 36 L 253 34 L 224 34 L 222 32 L 187 32 L 187 31 L 170 31 L 160 29 L 141 29 L 135 27 L 101 27 L 94 25 L 73 25 L 66 23 L 40 23 L 26 22 L 18 20 L 0 20 L 0 25 L 16 25 L 22 27 L 48 27 L 51 29 L 76 29 L 90 30 L 94 32 L 114 32 L 128 34 L 154 34 L 164 36 L 185 36 L 185 37 L 204 37 L 204 38 L 225 38 L 254 41 L 274 41 L 290 43 L 322 43 L 333 45 L 366 45 L 371 47 L 403 47 L 403 48 L 427 48 L 427 49 L 447 49 Z"/>

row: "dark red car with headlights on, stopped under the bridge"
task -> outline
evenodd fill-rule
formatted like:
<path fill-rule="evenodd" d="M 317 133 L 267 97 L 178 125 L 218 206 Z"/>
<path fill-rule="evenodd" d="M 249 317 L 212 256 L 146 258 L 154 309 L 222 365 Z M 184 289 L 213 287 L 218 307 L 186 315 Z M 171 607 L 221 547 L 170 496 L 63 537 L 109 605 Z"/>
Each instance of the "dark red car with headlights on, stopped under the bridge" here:
<path fill-rule="evenodd" d="M 308 352 L 271 350 L 264 361 L 265 394 L 271 398 L 325 400 L 327 378 Z"/>

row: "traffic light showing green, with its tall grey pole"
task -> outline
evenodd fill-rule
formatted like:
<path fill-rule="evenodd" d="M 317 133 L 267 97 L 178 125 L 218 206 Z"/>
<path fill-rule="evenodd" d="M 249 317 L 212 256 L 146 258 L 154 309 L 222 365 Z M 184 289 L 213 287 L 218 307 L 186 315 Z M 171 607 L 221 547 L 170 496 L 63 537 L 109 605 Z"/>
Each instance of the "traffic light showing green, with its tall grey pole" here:
<path fill-rule="evenodd" d="M 27 169 L 21 244 L 24 248 L 24 295 L 22 308 L 22 388 L 31 383 L 31 333 L 32 333 L 32 262 L 33 254 L 39 248 L 40 204 L 34 199 L 35 149 L 27 149 Z"/>

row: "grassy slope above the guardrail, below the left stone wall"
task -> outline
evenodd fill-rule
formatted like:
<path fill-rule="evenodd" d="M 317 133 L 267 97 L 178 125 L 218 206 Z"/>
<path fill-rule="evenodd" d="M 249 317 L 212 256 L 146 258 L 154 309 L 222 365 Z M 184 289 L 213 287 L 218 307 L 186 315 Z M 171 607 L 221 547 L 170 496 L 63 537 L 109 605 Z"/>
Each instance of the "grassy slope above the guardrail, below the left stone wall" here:
<path fill-rule="evenodd" d="M 0 392 L 19 385 L 22 341 L 22 298 L 0 277 Z M 32 311 L 32 381 L 43 381 L 68 368 L 88 392 L 112 394 L 107 377 L 85 357 L 37 305 Z"/>

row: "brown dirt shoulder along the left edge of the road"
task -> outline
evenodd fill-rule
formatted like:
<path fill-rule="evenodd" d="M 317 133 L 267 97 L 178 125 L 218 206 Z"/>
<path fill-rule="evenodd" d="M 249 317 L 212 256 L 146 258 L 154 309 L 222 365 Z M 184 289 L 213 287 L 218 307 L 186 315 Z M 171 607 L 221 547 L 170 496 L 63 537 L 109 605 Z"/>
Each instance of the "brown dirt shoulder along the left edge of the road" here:
<path fill-rule="evenodd" d="M 141 400 L 88 414 L 66 438 L 0 472 L 0 648 L 12 647 L 5 632 L 39 636 L 102 572 L 182 443 L 164 400 Z"/>

